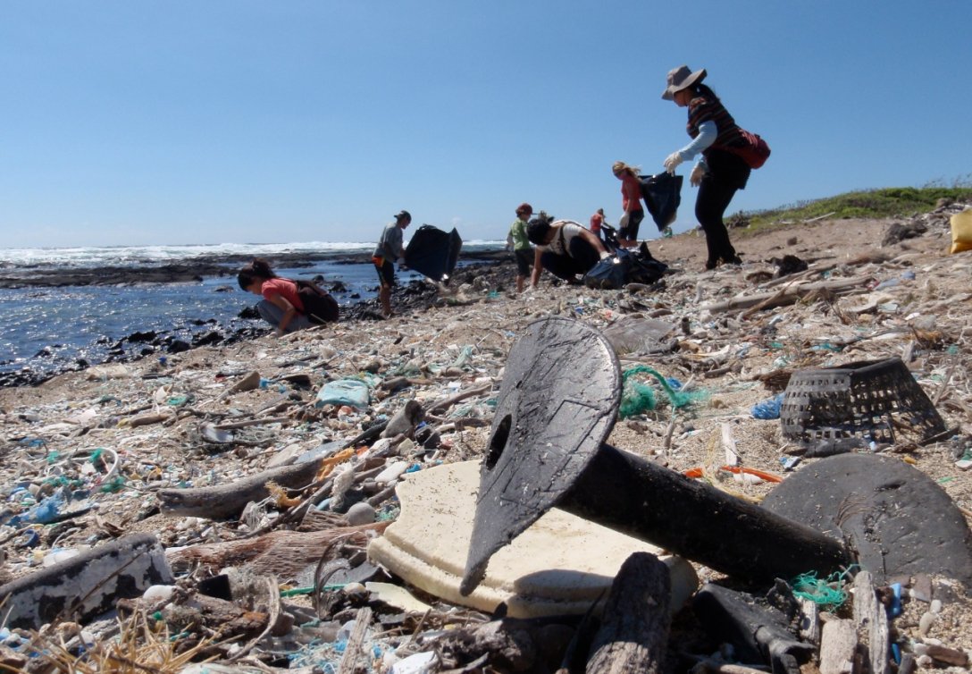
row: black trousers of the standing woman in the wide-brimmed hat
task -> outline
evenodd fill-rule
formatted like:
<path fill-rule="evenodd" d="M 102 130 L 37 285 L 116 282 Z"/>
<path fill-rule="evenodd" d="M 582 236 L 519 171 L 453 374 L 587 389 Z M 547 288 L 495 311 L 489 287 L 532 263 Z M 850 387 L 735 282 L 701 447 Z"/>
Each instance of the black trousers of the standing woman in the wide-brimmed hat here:
<path fill-rule="evenodd" d="M 746 188 L 750 169 L 744 160 L 721 150 L 707 153 L 706 165 L 708 169 L 695 200 L 695 217 L 706 232 L 709 248 L 706 266 L 712 267 L 736 259 L 736 249 L 729 241 L 729 231 L 722 216 L 737 190 Z"/>

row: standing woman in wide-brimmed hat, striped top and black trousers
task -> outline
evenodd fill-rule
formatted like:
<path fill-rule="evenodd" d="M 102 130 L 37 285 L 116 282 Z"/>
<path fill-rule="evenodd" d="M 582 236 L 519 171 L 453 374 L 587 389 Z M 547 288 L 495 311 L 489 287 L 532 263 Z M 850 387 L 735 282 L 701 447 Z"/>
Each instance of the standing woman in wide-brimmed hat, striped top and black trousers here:
<path fill-rule="evenodd" d="M 729 241 L 722 216 L 737 190 L 746 188 L 749 165 L 738 155 L 724 148 L 742 142 L 740 128 L 712 89 L 702 84 L 706 69 L 692 71 L 687 65 L 670 70 L 668 87 L 662 98 L 688 108 L 686 130 L 692 142 L 668 156 L 665 168 L 674 173 L 682 161 L 701 156 L 689 176 L 693 187 L 699 188 L 695 200 L 695 217 L 706 232 L 709 257 L 706 268 L 727 263 L 742 264 L 736 249 Z"/>

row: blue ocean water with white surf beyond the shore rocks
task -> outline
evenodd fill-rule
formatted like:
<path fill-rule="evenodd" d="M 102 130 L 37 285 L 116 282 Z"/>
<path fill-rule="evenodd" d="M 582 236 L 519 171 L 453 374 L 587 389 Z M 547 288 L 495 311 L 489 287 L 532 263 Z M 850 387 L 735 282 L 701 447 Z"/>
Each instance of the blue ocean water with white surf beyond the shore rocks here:
<path fill-rule="evenodd" d="M 472 241 L 464 251 L 502 247 L 498 241 Z M 0 249 L 0 266 L 17 269 L 70 269 L 96 266 L 168 265 L 194 258 L 244 255 L 269 257 L 283 253 L 362 254 L 371 243 L 219 244 L 205 246 L 146 246 L 109 248 Z M 464 263 L 461 261 L 460 265 Z M 261 326 L 260 321 L 239 318 L 259 298 L 241 291 L 235 271 L 193 283 L 153 283 L 122 286 L 71 286 L 63 288 L 0 289 L 0 374 L 59 372 L 77 367 L 80 360 L 93 365 L 118 352 L 120 341 L 135 333 L 165 334 L 191 342 L 220 327 L 234 331 Z M 324 276 L 324 287 L 340 281 L 345 292 L 332 292 L 342 305 L 369 300 L 377 292 L 374 266 L 321 261 L 313 266 L 274 269 L 282 276 Z M 421 276 L 401 272 L 407 283 Z M 145 348 L 125 342 L 123 347 Z M 2 378 L 2 377 L 0 377 Z"/>

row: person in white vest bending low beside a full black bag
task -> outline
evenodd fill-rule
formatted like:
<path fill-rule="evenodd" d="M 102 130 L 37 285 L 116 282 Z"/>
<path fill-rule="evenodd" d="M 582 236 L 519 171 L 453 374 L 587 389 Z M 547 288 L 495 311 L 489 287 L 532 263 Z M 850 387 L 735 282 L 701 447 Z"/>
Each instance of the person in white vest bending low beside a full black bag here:
<path fill-rule="evenodd" d="M 577 281 L 610 253 L 590 230 L 573 220 L 553 220 L 542 211 L 530 221 L 527 236 L 537 248 L 534 250 L 534 272 L 530 285 L 537 287 L 540 272 L 546 269 L 569 283 Z"/>

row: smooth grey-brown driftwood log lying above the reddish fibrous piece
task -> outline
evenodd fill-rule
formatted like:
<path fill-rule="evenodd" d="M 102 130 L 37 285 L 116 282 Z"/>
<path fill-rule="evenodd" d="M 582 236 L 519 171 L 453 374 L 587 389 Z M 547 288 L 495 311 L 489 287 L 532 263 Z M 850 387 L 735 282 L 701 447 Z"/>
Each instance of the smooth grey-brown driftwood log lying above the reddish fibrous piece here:
<path fill-rule="evenodd" d="M 267 482 L 284 487 L 303 487 L 317 475 L 320 461 L 307 461 L 263 471 L 249 478 L 227 484 L 191 489 L 159 489 L 156 492 L 160 509 L 166 514 L 182 514 L 210 519 L 239 516 L 251 501 L 269 495 Z"/>

